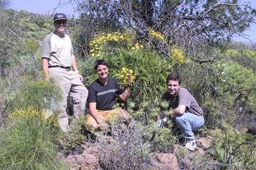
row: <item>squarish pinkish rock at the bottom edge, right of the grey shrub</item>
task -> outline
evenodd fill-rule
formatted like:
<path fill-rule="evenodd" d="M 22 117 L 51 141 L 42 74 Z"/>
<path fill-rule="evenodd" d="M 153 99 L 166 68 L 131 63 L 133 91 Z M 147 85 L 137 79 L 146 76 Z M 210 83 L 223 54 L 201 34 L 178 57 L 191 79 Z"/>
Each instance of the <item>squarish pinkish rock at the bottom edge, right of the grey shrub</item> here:
<path fill-rule="evenodd" d="M 172 169 L 179 168 L 177 158 L 173 153 L 152 153 L 151 164 L 154 169 Z"/>

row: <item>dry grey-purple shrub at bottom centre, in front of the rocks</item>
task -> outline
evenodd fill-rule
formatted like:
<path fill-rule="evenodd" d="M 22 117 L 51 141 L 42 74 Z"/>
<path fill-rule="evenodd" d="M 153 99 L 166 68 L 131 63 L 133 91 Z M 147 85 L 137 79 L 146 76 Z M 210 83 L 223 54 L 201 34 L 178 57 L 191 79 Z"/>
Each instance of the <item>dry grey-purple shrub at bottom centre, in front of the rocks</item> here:
<path fill-rule="evenodd" d="M 150 145 L 145 132 L 134 121 L 129 126 L 117 122 L 110 130 L 113 139 L 98 135 L 100 166 L 103 169 L 147 169 Z"/>

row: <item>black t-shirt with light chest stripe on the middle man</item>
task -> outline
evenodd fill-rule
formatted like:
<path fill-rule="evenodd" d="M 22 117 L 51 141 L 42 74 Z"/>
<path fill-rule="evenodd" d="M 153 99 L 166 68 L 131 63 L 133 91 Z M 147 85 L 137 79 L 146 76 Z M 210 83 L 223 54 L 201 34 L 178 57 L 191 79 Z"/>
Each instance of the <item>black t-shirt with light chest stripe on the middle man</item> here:
<path fill-rule="evenodd" d="M 108 77 L 108 83 L 102 84 L 98 79 L 93 81 L 88 88 L 88 103 L 96 102 L 97 110 L 112 110 L 116 97 L 122 94 L 117 79 Z"/>

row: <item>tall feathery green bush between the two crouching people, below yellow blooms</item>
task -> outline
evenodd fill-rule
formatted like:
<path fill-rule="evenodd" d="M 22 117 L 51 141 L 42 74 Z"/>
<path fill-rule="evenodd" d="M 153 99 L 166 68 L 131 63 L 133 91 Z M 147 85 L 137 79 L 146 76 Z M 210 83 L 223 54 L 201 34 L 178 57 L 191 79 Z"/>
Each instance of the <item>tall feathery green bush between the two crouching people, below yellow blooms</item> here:
<path fill-rule="evenodd" d="M 114 47 L 116 48 L 116 46 Z M 158 115 L 161 95 L 166 90 L 166 77 L 173 71 L 173 60 L 162 57 L 154 51 L 129 50 L 124 47 L 115 50 L 108 47 L 102 57 L 109 64 L 110 76 L 117 78 L 122 67 L 134 71 L 135 81 L 128 102 L 128 106 L 129 103 L 132 103 L 133 106 L 129 113 L 135 119 L 150 124 L 150 119 Z M 97 59 L 89 57 L 83 63 L 83 69 L 85 69 L 83 73 L 87 79 L 85 83 L 90 84 L 97 78 L 93 69 L 95 60 Z"/>

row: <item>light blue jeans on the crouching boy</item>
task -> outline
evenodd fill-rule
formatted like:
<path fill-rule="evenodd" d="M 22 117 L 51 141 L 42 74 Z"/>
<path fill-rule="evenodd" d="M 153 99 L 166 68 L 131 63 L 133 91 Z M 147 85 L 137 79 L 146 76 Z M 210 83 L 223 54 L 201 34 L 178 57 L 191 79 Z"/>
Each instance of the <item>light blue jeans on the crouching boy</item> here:
<path fill-rule="evenodd" d="M 173 120 L 179 126 L 181 134 L 189 140 L 195 139 L 193 131 L 197 131 L 205 123 L 203 116 L 197 116 L 189 112 L 185 112 L 181 116 L 175 115 L 173 116 Z"/>

